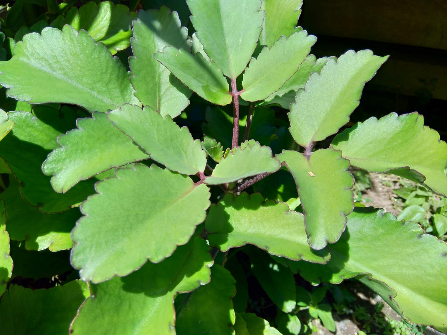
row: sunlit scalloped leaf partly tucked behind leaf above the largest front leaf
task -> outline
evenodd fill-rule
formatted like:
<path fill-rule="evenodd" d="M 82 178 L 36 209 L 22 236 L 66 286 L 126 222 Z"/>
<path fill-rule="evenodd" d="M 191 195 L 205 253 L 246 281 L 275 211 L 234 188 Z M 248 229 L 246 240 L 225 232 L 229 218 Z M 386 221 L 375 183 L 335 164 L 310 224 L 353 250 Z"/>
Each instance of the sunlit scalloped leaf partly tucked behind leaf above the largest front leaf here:
<path fill-rule="evenodd" d="M 139 107 L 137 107 L 139 108 Z M 58 137 L 59 147 L 43 162 L 56 192 L 65 193 L 80 180 L 128 163 L 148 159 L 132 140 L 112 125 L 106 113 L 76 120 L 76 129 Z"/>

